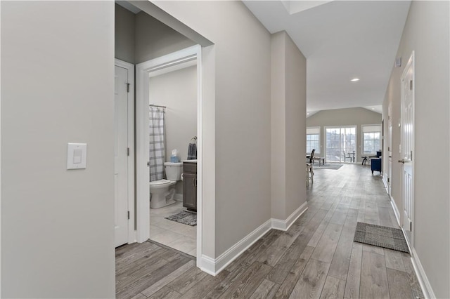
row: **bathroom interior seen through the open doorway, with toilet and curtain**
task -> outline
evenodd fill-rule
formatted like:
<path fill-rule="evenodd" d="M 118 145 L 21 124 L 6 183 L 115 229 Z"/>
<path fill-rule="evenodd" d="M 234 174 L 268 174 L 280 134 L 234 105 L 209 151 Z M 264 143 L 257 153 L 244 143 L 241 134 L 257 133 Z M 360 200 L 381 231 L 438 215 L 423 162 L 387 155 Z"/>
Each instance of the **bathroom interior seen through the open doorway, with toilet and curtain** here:
<path fill-rule="evenodd" d="M 148 91 L 150 240 L 196 256 L 196 60 L 150 72 Z"/>

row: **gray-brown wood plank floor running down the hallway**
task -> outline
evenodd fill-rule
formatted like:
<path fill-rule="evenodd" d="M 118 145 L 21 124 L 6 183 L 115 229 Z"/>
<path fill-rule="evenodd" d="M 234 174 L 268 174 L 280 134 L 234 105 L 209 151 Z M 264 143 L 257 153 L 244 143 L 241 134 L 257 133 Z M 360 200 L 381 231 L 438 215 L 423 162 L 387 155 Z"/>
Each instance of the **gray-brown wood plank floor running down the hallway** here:
<path fill-rule="evenodd" d="M 353 242 L 357 221 L 398 227 L 381 178 L 368 166 L 318 168 L 309 209 L 217 277 L 149 242 L 117 248 L 117 298 L 424 298 L 409 254 Z"/>

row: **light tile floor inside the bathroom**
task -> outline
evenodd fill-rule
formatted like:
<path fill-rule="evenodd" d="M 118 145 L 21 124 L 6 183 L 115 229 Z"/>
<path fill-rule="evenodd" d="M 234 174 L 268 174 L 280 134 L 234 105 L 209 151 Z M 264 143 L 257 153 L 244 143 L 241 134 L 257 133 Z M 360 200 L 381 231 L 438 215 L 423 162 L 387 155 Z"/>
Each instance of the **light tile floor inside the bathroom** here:
<path fill-rule="evenodd" d="M 185 209 L 181 201 L 163 208 L 150 208 L 150 240 L 195 256 L 197 227 L 165 219 Z"/>

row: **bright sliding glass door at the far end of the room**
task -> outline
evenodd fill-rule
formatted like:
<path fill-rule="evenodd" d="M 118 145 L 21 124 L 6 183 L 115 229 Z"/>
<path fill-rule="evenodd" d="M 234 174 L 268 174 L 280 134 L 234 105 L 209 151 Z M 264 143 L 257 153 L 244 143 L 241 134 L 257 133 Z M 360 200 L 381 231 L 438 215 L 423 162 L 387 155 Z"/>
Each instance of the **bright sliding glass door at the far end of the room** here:
<path fill-rule="evenodd" d="M 356 161 L 356 126 L 325 128 L 325 153 L 328 162 Z"/>

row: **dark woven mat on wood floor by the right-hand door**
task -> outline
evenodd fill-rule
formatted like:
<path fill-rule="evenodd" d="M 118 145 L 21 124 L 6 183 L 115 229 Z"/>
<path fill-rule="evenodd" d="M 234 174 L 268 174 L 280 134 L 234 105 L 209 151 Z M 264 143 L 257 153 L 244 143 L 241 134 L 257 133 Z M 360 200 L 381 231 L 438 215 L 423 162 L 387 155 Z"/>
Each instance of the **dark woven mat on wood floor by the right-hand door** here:
<path fill-rule="evenodd" d="M 358 222 L 353 241 L 409 253 L 408 244 L 399 228 Z"/>

